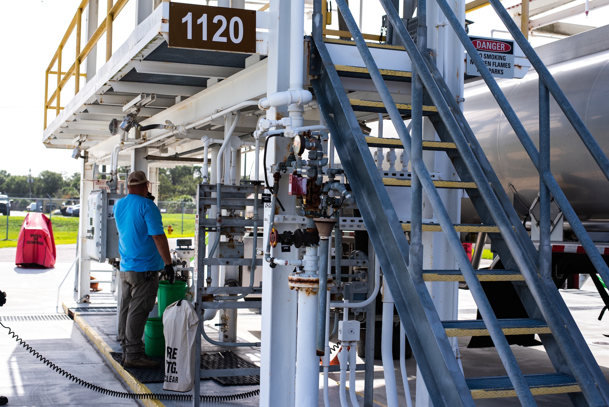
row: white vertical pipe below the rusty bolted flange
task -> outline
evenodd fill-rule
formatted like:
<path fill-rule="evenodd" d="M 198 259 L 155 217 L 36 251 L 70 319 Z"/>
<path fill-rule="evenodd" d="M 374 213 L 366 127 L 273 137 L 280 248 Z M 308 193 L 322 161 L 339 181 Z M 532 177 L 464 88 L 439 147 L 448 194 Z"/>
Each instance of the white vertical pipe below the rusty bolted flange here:
<path fill-rule="evenodd" d="M 317 292 L 298 291 L 295 407 L 319 406 Z"/>

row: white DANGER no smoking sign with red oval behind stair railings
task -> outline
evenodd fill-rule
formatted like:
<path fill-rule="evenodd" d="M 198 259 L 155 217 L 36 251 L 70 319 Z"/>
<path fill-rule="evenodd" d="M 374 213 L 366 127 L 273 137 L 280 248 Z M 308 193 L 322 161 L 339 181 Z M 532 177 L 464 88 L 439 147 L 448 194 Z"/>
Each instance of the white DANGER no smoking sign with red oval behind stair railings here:
<path fill-rule="evenodd" d="M 493 77 L 507 79 L 514 77 L 514 41 L 485 37 L 470 37 L 470 40 Z M 469 54 L 465 73 L 481 76 Z"/>

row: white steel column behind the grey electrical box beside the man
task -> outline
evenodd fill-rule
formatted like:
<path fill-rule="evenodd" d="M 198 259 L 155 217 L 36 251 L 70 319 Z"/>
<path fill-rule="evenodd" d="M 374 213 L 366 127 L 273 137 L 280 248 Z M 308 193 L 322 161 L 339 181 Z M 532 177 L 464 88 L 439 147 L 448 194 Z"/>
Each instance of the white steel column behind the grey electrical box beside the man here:
<path fill-rule="evenodd" d="M 78 280 L 74 288 L 74 300 L 77 302 L 89 302 L 85 296 L 91 292 L 91 260 L 86 253 L 86 228 L 89 225 L 87 213 L 87 200 L 93 190 L 93 163 L 82 160 L 80 166 L 80 218 L 79 218 L 79 260 Z"/>

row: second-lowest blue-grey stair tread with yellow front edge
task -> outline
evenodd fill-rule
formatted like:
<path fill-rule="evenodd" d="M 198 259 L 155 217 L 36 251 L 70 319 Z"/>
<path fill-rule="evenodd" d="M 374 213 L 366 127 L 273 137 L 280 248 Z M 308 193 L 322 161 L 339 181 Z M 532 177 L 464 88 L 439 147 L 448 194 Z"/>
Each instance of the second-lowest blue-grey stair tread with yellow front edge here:
<path fill-rule="evenodd" d="M 499 319 L 505 334 L 551 333 L 546 322 L 532 318 Z M 482 319 L 442 321 L 447 336 L 487 336 L 487 326 Z"/>

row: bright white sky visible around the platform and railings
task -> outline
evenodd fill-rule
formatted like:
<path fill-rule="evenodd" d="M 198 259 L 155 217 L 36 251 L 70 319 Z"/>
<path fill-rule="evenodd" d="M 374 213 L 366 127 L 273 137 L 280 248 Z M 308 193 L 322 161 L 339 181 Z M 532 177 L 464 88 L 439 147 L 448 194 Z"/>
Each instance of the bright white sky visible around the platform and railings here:
<path fill-rule="evenodd" d="M 188 1 L 183 1 L 188 2 Z M 190 1 L 205 4 L 205 0 Z M 518 4 L 520 0 L 504 0 L 506 6 Z M 583 3 L 578 0 L 577 3 Z M 32 174 L 49 169 L 51 171 L 72 172 L 80 171 L 79 160 L 71 158 L 69 150 L 46 149 L 41 143 L 43 134 L 43 100 L 44 100 L 44 69 L 51 61 L 59 41 L 65 34 L 69 21 L 76 12 L 80 0 L 19 0 L 3 2 L 2 10 L 5 32 L 13 33 L 12 37 L 2 41 L 2 54 L 4 63 L 0 64 L 0 76 L 4 78 L 0 92 L 0 121 L 4 123 L 5 131 L 1 136 L 2 160 L 0 169 L 11 174 L 27 174 L 29 168 Z M 103 15 L 100 1 L 100 17 Z M 215 1 L 210 1 L 215 5 Z M 573 4 L 569 4 L 570 7 Z M 131 0 L 122 10 L 114 22 L 113 48 L 120 46 L 135 24 L 135 0 Z M 336 5 L 334 6 L 336 8 Z M 248 9 L 254 8 L 248 4 Z M 565 7 L 566 8 L 566 7 Z M 359 1 L 351 0 L 351 10 L 359 20 Z M 363 30 L 367 34 L 376 34 L 380 31 L 381 16 L 384 14 L 376 0 L 364 2 Z M 18 16 L 27 15 L 27 24 Z M 590 16 L 574 16 L 564 20 L 566 23 L 582 24 L 586 26 L 602 26 L 609 17 L 609 7 L 593 10 Z M 470 26 L 471 35 L 491 37 L 491 30 L 505 30 L 499 18 L 491 7 L 484 7 L 475 12 L 468 13 L 467 18 L 475 23 Z M 85 24 L 83 18 L 83 27 Z M 333 18 L 337 29 L 336 14 Z M 308 21 L 310 27 L 311 20 Z M 309 28 L 310 30 L 310 28 Z M 507 34 L 495 33 L 495 37 L 509 38 Z M 530 38 L 533 46 L 551 41 L 547 38 Z M 102 46 L 98 47 L 98 68 L 105 60 L 105 37 L 100 40 Z M 74 62 L 74 41 L 66 45 L 63 63 L 65 71 Z M 52 82 L 54 76 L 49 76 Z M 71 99 L 74 94 L 73 83 L 68 83 L 62 93 L 62 105 Z M 54 113 L 49 111 L 49 122 Z M 385 121 L 385 132 L 390 132 L 392 126 Z M 386 134 L 389 136 L 389 133 Z"/>

